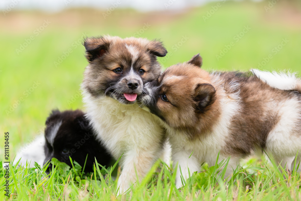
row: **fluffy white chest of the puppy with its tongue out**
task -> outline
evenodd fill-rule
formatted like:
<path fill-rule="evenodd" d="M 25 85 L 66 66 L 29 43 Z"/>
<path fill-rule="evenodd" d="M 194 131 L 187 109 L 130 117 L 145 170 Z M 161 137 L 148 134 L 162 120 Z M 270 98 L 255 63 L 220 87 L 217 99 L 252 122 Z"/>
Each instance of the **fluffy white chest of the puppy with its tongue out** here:
<path fill-rule="evenodd" d="M 122 105 L 110 97 L 93 99 L 84 94 L 87 116 L 97 137 L 116 159 L 129 150 L 160 146 L 163 129 L 154 115 L 136 104 Z"/>

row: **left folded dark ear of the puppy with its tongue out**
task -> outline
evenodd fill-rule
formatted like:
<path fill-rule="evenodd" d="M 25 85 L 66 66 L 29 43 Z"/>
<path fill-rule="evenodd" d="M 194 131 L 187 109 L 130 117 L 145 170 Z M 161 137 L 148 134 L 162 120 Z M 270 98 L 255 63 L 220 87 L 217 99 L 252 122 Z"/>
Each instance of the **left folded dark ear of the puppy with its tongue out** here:
<path fill-rule="evenodd" d="M 92 62 L 96 58 L 101 58 L 110 47 L 110 40 L 104 37 L 91 37 L 84 40 L 86 49 L 86 58 L 89 62 Z"/>

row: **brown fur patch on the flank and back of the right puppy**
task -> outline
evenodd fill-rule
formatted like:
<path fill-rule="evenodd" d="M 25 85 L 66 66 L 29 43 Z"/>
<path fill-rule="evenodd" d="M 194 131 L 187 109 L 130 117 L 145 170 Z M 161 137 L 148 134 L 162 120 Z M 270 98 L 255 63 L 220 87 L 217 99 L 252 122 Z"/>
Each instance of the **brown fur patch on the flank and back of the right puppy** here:
<path fill-rule="evenodd" d="M 278 123 L 278 114 L 266 104 L 287 98 L 285 91 L 274 89 L 255 76 L 230 72 L 220 74 L 225 84 L 240 84 L 241 111 L 231 121 L 231 138 L 223 152 L 232 155 L 247 155 L 255 146 L 265 148 L 268 133 Z M 233 92 L 231 92 L 233 93 Z M 264 104 L 263 104 L 264 103 Z"/>

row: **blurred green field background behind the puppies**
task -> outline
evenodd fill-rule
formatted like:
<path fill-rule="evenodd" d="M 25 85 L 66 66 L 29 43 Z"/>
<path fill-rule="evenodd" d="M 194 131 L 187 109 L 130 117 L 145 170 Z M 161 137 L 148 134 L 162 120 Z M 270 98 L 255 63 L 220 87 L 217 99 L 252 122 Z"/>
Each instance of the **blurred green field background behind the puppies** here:
<path fill-rule="evenodd" d="M 160 39 L 169 52 L 159 58 L 164 68 L 200 53 L 208 71 L 300 71 L 300 3 L 273 2 L 219 1 L 147 13 L 116 8 L 105 17 L 105 9 L 90 8 L 2 15 L 0 130 L 10 133 L 11 159 L 43 131 L 52 109 L 84 109 L 79 86 L 86 36 Z"/>

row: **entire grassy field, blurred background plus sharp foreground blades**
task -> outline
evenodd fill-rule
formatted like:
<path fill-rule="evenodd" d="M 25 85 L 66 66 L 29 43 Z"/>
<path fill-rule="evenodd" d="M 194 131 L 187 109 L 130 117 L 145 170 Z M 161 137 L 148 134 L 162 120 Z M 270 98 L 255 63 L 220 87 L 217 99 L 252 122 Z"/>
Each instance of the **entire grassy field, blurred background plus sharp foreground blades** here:
<path fill-rule="evenodd" d="M 5 27 L 0 30 L 0 130 L 10 133 L 11 160 L 20 146 L 43 132 L 51 109 L 83 109 L 82 98 L 78 93 L 82 73 L 87 65 L 84 48 L 79 44 L 84 36 L 111 34 L 161 39 L 169 51 L 166 57 L 159 58 L 164 68 L 188 61 L 193 55 L 200 53 L 203 57 L 202 68 L 205 70 L 247 71 L 250 68 L 259 68 L 258 63 L 272 54 L 272 59 L 260 67 L 262 70 L 301 70 L 300 4 L 278 1 L 266 12 L 264 6 L 268 5 L 268 1 L 226 2 L 204 21 L 203 16 L 216 4 L 214 2 L 184 12 L 167 10 L 160 13 L 139 13 L 116 9 L 106 19 L 103 18 L 103 11 L 91 9 L 69 9 L 54 14 L 11 11 L 0 18 L 1 27 Z M 51 23 L 36 36 L 34 30 L 44 20 Z M 143 29 L 144 23 L 150 26 L 138 35 L 137 31 Z M 245 26 L 251 29 L 237 41 L 234 37 Z M 18 54 L 16 49 L 30 36 L 35 39 Z M 275 54 L 274 47 L 280 45 L 283 39 L 288 40 L 287 44 Z M 216 55 L 231 42 L 234 42 L 234 46 L 222 58 L 217 59 Z M 55 66 L 54 62 L 58 62 L 68 49 L 72 50 L 69 56 Z M 31 90 L 35 82 L 39 85 L 30 94 L 27 93 L 26 90 Z M 17 107 L 7 114 L 19 101 L 20 104 L 15 105 Z M 3 139 L 2 137 L 0 140 L 2 161 Z M 261 167 L 258 160 L 251 159 L 251 162 L 249 165 Z M 204 165 L 204 172 L 195 174 L 181 192 L 175 189 L 173 170 L 158 163 L 154 166 L 155 173 L 150 173 L 144 183 L 136 185 L 131 198 L 300 199 L 300 178 L 297 173 L 287 175 L 288 173 L 279 172 L 275 165 L 268 167 L 265 162 L 261 163 L 263 170 L 243 170 L 243 173 L 237 174 L 234 180 L 228 182 L 219 180 L 217 174 L 210 172 L 210 167 Z M 39 171 L 12 168 L 9 179 L 11 199 L 115 199 L 116 184 L 110 174 L 102 179 L 96 171 L 92 179 L 89 177 L 90 180 L 82 175 L 79 179 L 87 181 L 81 183 L 76 179 L 75 172 L 59 174 L 57 169 L 48 178 L 41 168 Z M 95 181 L 95 176 L 99 180 Z M 3 182 L 1 178 L 0 200 L 6 199 L 2 193 Z M 198 185 L 199 182 L 208 183 Z M 129 197 L 128 195 L 127 198 Z"/>

